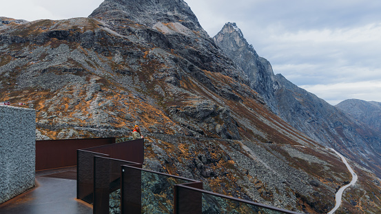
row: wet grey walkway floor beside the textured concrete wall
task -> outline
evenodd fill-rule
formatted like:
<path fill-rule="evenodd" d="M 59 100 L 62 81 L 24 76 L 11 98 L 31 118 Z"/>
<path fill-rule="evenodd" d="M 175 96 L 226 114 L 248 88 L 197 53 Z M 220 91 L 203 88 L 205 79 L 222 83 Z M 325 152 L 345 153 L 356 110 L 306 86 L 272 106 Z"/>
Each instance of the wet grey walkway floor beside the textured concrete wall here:
<path fill-rule="evenodd" d="M 1 214 L 90 214 L 92 207 L 76 200 L 76 167 L 36 172 L 37 187 L 0 205 Z"/>

